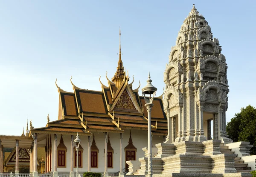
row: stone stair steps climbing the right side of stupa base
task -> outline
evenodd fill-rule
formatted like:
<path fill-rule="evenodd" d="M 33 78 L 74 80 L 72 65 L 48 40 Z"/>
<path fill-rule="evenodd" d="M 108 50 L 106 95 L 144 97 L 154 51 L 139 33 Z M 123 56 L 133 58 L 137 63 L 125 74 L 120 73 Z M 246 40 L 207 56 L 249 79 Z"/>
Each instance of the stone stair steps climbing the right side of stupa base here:
<path fill-rule="evenodd" d="M 220 144 L 220 151 L 222 154 L 234 154 L 235 152 L 232 151 L 232 149 L 228 148 L 228 146 L 225 146 L 224 143 Z M 247 163 L 244 163 L 244 160 L 241 160 L 241 157 L 235 157 L 235 168 L 237 173 L 241 172 L 247 172 L 250 173 L 251 167 L 248 167 Z"/>

